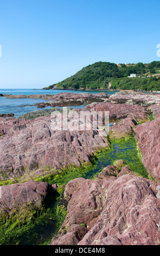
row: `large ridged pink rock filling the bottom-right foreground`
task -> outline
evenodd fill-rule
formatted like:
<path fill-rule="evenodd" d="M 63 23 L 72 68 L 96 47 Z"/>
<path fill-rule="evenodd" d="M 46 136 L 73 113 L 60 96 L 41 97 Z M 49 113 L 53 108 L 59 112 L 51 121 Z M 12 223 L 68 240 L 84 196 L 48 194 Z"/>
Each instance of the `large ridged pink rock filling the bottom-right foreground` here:
<path fill-rule="evenodd" d="M 69 181 L 67 215 L 50 245 L 159 245 L 160 186 L 135 175 Z"/>

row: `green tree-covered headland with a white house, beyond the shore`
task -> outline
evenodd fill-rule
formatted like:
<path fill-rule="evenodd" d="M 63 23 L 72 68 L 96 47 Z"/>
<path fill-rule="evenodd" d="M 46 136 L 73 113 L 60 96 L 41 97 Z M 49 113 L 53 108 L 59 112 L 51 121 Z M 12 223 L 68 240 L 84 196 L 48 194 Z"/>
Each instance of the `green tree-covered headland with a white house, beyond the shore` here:
<path fill-rule="evenodd" d="M 137 78 L 128 78 L 130 74 L 137 74 Z M 160 74 L 160 62 L 149 64 L 114 64 L 97 62 L 88 65 L 75 75 L 43 89 L 133 89 L 160 90 L 160 77 L 148 75 Z M 145 77 L 145 78 L 144 78 Z M 110 86 L 109 86 L 110 84 Z"/>

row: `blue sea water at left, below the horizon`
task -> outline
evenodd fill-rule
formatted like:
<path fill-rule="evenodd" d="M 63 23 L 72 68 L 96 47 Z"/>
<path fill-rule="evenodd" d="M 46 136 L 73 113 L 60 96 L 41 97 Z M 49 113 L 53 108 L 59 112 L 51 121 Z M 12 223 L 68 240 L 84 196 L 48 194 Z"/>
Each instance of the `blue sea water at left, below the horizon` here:
<path fill-rule="evenodd" d="M 12 94 L 12 95 L 31 95 L 31 94 L 57 94 L 61 92 L 71 92 L 71 93 L 82 93 L 84 91 L 75 91 L 75 90 L 33 90 L 33 89 L 0 89 L 0 94 Z M 98 91 L 85 91 L 87 93 L 100 93 Z M 103 91 L 107 94 L 114 94 L 111 91 Z M 19 117 L 20 115 L 29 113 L 31 111 L 40 110 L 41 108 L 37 108 L 34 105 L 37 102 L 45 102 L 47 100 L 41 99 L 7 99 L 7 97 L 0 97 L 0 114 L 15 114 L 15 117 Z M 74 108 L 84 108 L 86 105 L 77 106 Z M 72 107 L 72 106 L 68 106 Z M 44 109 L 52 108 L 45 107 Z"/>

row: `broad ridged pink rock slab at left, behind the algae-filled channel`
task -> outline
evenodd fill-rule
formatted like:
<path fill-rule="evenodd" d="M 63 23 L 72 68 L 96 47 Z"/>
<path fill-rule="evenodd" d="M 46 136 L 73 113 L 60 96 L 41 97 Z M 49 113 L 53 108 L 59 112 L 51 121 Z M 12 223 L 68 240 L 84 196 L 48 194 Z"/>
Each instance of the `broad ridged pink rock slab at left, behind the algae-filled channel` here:
<path fill-rule="evenodd" d="M 90 162 L 95 151 L 109 147 L 98 130 L 70 131 L 52 129 L 53 119 L 0 119 L 0 172 L 15 178 L 24 172 L 45 167 L 60 169 Z M 66 119 L 66 122 L 68 119 Z"/>

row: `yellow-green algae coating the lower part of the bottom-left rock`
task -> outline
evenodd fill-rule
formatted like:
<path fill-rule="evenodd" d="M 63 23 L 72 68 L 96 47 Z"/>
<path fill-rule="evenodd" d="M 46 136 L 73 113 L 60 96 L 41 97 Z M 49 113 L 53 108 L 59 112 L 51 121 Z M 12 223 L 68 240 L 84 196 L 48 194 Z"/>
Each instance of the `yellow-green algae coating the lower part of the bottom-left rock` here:
<path fill-rule="evenodd" d="M 13 209 L 10 214 L 1 211 L 0 245 L 28 245 L 41 240 L 36 230 L 48 223 L 51 209 L 37 209 L 32 202 Z"/>

